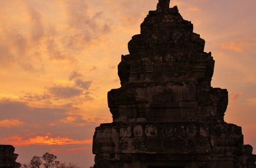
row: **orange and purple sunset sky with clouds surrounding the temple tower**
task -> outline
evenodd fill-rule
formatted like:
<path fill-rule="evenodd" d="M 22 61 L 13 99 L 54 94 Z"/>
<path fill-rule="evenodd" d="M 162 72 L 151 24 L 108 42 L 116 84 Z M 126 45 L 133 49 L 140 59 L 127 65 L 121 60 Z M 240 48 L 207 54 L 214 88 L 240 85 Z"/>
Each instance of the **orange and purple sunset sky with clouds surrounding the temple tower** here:
<path fill-rule="evenodd" d="M 112 121 L 117 65 L 158 0 L 0 0 L 0 144 L 17 162 L 50 152 L 93 166 L 95 127 Z M 256 153 L 256 0 L 171 0 L 212 52 L 225 121 Z"/>

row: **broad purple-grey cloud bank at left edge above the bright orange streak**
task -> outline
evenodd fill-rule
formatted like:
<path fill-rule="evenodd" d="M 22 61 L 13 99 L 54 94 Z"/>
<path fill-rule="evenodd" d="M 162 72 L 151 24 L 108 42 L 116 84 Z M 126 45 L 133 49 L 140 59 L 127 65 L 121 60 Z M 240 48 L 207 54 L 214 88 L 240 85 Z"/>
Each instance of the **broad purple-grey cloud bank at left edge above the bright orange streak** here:
<path fill-rule="evenodd" d="M 0 127 L 0 139 L 9 135 L 29 136 L 54 132 L 49 124 L 61 120 L 65 113 L 66 110 L 62 108 L 37 108 L 28 106 L 26 102 L 0 100 L 0 120 L 15 119 L 24 123 L 18 129 Z"/>

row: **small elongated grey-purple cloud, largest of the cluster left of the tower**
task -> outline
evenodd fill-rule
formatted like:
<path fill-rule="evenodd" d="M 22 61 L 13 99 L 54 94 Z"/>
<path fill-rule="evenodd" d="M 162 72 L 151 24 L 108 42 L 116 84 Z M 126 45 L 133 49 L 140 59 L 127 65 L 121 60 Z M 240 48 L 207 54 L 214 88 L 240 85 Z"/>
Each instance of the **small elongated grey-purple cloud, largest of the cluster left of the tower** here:
<path fill-rule="evenodd" d="M 56 98 L 65 99 L 80 96 L 82 94 L 82 90 L 68 86 L 54 86 L 52 88 L 48 88 L 48 93 L 54 95 Z"/>

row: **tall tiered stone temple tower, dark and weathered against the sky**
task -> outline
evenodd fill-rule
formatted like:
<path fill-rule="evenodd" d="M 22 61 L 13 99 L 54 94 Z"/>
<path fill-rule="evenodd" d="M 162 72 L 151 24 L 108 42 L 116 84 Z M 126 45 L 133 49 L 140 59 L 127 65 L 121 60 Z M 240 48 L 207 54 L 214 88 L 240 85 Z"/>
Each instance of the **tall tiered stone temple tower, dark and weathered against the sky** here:
<path fill-rule="evenodd" d="M 113 123 L 93 136 L 95 168 L 256 168 L 241 127 L 223 116 L 204 39 L 170 0 L 159 0 L 121 56 L 121 88 L 108 92 Z"/>

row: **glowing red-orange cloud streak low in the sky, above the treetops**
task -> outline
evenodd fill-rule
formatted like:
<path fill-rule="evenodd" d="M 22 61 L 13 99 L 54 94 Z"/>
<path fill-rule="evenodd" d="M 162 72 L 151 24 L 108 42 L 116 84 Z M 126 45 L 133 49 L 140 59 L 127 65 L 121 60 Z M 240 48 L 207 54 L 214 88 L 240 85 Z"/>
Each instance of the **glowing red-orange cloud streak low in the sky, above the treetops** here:
<path fill-rule="evenodd" d="M 29 145 L 69 145 L 69 144 L 91 144 L 92 140 L 73 140 L 69 138 L 51 138 L 50 136 L 37 136 L 24 140 L 21 136 L 9 136 L 0 140 L 2 144 L 12 144 L 14 146 Z"/>

